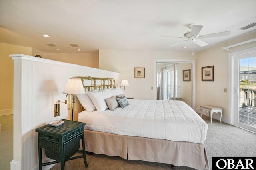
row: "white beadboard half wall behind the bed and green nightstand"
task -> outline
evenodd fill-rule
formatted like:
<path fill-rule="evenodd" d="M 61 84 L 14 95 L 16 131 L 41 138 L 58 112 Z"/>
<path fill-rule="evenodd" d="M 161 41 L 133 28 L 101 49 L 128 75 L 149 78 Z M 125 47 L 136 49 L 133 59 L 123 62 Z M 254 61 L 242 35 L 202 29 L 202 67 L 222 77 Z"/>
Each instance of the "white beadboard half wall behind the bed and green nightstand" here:
<path fill-rule="evenodd" d="M 109 77 L 120 82 L 119 73 L 78 66 L 28 55 L 10 55 L 14 60 L 14 153 L 11 170 L 38 169 L 38 139 L 35 129 L 57 119 L 70 119 L 66 104 L 54 117 L 54 104 L 68 78 Z M 118 86 L 118 83 L 116 84 Z M 47 160 L 43 156 L 43 162 Z"/>

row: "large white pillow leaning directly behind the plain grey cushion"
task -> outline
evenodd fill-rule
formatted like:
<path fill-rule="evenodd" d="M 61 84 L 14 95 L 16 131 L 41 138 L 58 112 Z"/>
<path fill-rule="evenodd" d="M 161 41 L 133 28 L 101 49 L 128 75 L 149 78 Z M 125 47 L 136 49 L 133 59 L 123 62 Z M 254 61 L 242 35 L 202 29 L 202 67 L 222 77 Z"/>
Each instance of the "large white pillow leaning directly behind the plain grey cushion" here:
<path fill-rule="evenodd" d="M 102 90 L 98 92 L 88 92 L 88 96 L 92 100 L 98 112 L 108 109 L 105 99 L 112 97 L 110 90 Z"/>

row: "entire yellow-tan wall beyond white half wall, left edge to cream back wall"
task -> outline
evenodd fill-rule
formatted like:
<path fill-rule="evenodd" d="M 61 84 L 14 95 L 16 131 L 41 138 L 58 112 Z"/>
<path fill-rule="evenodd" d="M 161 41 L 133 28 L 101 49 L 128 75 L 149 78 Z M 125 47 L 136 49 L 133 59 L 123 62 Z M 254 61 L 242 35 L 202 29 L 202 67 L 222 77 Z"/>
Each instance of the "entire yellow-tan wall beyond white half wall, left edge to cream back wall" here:
<path fill-rule="evenodd" d="M 10 54 L 25 54 L 42 58 L 98 68 L 98 53 L 44 53 L 38 49 L 0 43 L 0 115 L 12 114 L 13 109 L 13 60 Z"/>

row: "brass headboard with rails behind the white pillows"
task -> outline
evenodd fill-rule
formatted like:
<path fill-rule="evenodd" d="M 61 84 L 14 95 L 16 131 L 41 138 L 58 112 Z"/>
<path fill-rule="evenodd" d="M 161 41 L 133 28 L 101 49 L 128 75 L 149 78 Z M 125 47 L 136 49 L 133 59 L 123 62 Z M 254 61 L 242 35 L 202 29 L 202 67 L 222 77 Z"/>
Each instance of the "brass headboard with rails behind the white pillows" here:
<path fill-rule="evenodd" d="M 99 78 L 99 77 L 74 77 L 74 78 L 80 78 L 82 80 L 83 86 L 85 90 L 87 89 L 88 91 L 94 91 L 94 90 L 104 90 L 106 88 L 116 88 L 116 82 L 114 78 Z M 93 80 L 91 81 L 90 86 L 84 85 L 84 80 Z M 96 85 L 97 80 L 102 80 L 100 85 Z M 108 83 L 106 83 L 106 80 Z"/>

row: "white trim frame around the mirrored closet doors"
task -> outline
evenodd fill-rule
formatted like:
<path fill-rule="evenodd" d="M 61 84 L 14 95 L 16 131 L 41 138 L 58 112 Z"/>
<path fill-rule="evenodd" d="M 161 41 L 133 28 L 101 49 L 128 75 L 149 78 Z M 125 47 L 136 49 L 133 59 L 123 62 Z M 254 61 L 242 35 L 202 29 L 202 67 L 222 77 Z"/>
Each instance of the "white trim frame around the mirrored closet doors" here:
<path fill-rule="evenodd" d="M 195 110 L 195 80 L 196 80 L 196 73 L 195 73 L 195 60 L 190 59 L 154 59 L 154 100 L 157 98 L 157 87 L 156 87 L 156 63 L 191 63 L 191 80 L 192 80 L 192 95 L 191 95 L 191 101 L 192 101 L 192 109 Z"/>

